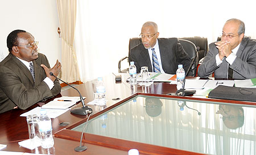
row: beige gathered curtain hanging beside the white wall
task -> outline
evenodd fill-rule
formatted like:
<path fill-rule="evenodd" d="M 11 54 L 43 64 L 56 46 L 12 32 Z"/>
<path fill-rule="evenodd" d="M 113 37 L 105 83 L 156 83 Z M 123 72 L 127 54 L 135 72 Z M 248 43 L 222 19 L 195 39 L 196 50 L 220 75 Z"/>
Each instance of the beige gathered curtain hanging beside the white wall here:
<path fill-rule="evenodd" d="M 61 29 L 61 79 L 72 83 L 80 81 L 76 51 L 73 48 L 76 27 L 76 0 L 57 0 Z"/>

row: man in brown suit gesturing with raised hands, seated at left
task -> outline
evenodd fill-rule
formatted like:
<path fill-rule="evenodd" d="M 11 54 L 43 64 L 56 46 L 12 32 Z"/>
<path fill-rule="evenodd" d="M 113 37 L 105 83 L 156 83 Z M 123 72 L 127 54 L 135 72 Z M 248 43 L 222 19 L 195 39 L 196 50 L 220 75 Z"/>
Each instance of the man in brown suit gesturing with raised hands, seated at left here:
<path fill-rule="evenodd" d="M 58 75 L 61 64 L 50 68 L 46 55 L 38 53 L 38 41 L 23 30 L 15 30 L 7 37 L 9 55 L 0 63 L 0 113 L 31 105 L 60 93 Z"/>

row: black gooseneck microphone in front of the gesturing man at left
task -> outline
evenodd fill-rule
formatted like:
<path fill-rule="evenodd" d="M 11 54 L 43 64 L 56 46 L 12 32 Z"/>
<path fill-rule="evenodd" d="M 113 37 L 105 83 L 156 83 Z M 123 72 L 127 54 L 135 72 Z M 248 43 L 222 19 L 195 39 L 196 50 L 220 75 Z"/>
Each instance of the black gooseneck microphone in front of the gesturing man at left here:
<path fill-rule="evenodd" d="M 52 72 L 50 72 L 49 75 L 54 76 L 56 79 L 58 79 L 60 81 L 63 81 L 63 80 L 57 78 L 57 76 L 53 75 Z M 75 87 L 66 83 L 65 81 L 63 81 L 63 83 L 65 83 L 65 84 L 69 85 L 70 87 L 76 89 Z M 76 89 L 76 91 L 79 92 L 79 90 L 77 90 L 77 89 Z M 75 109 L 72 109 L 70 112 L 73 113 L 73 114 L 77 114 L 77 115 L 87 115 L 88 113 L 91 113 L 93 111 L 92 108 L 90 108 L 89 106 L 85 106 L 84 100 L 82 99 L 82 95 L 81 95 L 80 92 L 79 92 L 79 96 L 80 96 L 80 101 L 82 103 L 82 107 L 77 107 Z"/>

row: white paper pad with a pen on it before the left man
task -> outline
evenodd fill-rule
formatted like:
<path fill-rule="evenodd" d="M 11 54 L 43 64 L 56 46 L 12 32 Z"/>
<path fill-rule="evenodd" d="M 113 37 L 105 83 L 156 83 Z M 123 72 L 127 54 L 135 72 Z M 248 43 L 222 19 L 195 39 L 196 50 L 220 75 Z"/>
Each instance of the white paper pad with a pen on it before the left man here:
<path fill-rule="evenodd" d="M 84 100 L 86 97 L 82 97 Z M 43 105 L 42 108 L 47 109 L 67 109 L 77 102 L 80 101 L 80 97 L 73 97 L 73 96 L 62 96 L 55 98 L 53 101 L 48 102 L 47 104 Z"/>

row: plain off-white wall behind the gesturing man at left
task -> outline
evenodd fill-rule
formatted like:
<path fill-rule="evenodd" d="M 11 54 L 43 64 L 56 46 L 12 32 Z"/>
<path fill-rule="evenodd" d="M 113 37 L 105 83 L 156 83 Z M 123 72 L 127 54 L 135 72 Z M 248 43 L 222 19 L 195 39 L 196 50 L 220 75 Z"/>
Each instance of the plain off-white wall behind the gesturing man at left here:
<path fill-rule="evenodd" d="M 9 54 L 6 38 L 15 29 L 30 32 L 39 41 L 40 53 L 47 56 L 53 67 L 61 61 L 61 38 L 57 33 L 59 17 L 55 0 L 8 0 L 0 5 L 0 61 Z"/>

